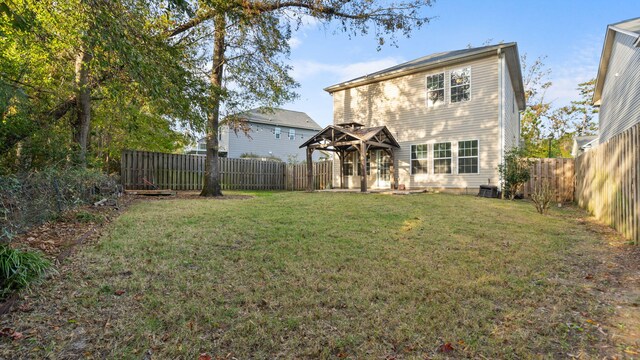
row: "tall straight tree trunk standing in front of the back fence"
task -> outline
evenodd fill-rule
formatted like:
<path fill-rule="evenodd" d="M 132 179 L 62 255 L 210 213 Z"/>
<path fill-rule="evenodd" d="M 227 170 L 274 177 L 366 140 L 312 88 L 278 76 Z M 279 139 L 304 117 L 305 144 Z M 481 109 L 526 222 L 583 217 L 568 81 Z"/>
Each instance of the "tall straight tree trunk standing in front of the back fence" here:
<path fill-rule="evenodd" d="M 202 188 L 200 196 L 222 196 L 220 167 L 218 165 L 218 127 L 220 122 L 220 105 L 222 102 L 222 73 L 226 36 L 226 21 L 224 15 L 217 15 L 214 22 L 213 65 L 210 78 L 212 105 L 207 116 L 207 157 L 204 165 L 204 187 Z"/>

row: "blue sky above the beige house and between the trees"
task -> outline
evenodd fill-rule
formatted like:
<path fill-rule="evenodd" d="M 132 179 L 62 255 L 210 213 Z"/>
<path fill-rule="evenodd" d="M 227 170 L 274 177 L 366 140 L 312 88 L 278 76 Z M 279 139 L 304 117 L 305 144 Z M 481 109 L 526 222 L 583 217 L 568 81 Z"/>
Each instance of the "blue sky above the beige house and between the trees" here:
<path fill-rule="evenodd" d="M 305 24 L 290 41 L 300 98 L 283 108 L 304 111 L 321 126 L 333 122 L 331 96 L 322 89 L 434 52 L 480 46 L 487 40 L 518 43 L 528 58 L 547 56 L 552 88 L 547 98 L 563 105 L 578 98 L 578 83 L 596 76 L 606 26 L 640 16 L 640 0 L 436 1 L 433 20 L 376 50 L 372 37 L 349 39 L 332 27 Z"/>

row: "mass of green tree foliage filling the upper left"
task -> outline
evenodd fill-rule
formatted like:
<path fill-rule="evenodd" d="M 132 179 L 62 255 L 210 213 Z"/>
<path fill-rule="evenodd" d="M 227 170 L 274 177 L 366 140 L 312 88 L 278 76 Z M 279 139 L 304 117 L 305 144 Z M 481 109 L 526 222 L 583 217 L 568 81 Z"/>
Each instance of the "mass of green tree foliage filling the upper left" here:
<path fill-rule="evenodd" d="M 193 42 L 168 41 L 167 9 L 148 2 L 15 0 L 25 25 L 0 22 L 0 166 L 18 172 L 73 163 L 79 148 L 76 61 L 91 95 L 89 163 L 117 168 L 127 147 L 175 151 L 180 127 L 199 126 L 206 82 Z M 171 1 L 182 11 L 183 1 Z"/>

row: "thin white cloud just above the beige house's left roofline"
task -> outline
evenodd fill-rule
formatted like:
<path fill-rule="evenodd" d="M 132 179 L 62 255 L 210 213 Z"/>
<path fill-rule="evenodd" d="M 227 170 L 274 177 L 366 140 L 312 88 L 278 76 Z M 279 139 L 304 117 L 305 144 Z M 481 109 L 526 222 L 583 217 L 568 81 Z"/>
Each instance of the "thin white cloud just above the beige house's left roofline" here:
<path fill-rule="evenodd" d="M 398 57 L 386 57 L 351 64 L 327 64 L 313 60 L 294 61 L 291 75 L 298 81 L 320 74 L 332 76 L 336 81 L 345 81 L 386 69 L 401 62 L 402 59 Z"/>

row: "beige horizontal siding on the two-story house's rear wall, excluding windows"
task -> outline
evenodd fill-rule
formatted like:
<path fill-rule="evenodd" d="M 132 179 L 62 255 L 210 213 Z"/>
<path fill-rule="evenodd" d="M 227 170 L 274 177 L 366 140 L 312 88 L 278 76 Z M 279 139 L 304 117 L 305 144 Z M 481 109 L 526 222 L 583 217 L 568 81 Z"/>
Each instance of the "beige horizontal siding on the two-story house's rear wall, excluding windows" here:
<path fill-rule="evenodd" d="M 449 76 L 452 70 L 463 67 L 471 68 L 471 100 L 451 103 Z M 336 91 L 333 93 L 334 123 L 355 121 L 365 126 L 386 125 L 401 146 L 396 152 L 399 184 L 409 188 L 477 188 L 487 181 L 498 184 L 497 167 L 501 152 L 498 68 L 498 56 L 491 55 L 428 72 Z M 447 84 L 445 103 L 428 108 L 426 76 L 441 72 L 445 73 Z M 463 140 L 479 141 L 478 174 L 457 174 L 458 141 Z M 433 173 L 433 144 L 438 142 L 451 142 L 453 174 Z M 412 144 L 428 144 L 428 174 L 411 174 Z M 335 166 L 334 186 L 339 186 L 337 162 Z M 368 183 L 375 184 L 375 159 L 371 161 L 371 169 Z M 359 181 L 360 177 L 350 176 L 347 178 L 347 185 L 356 188 Z"/>

